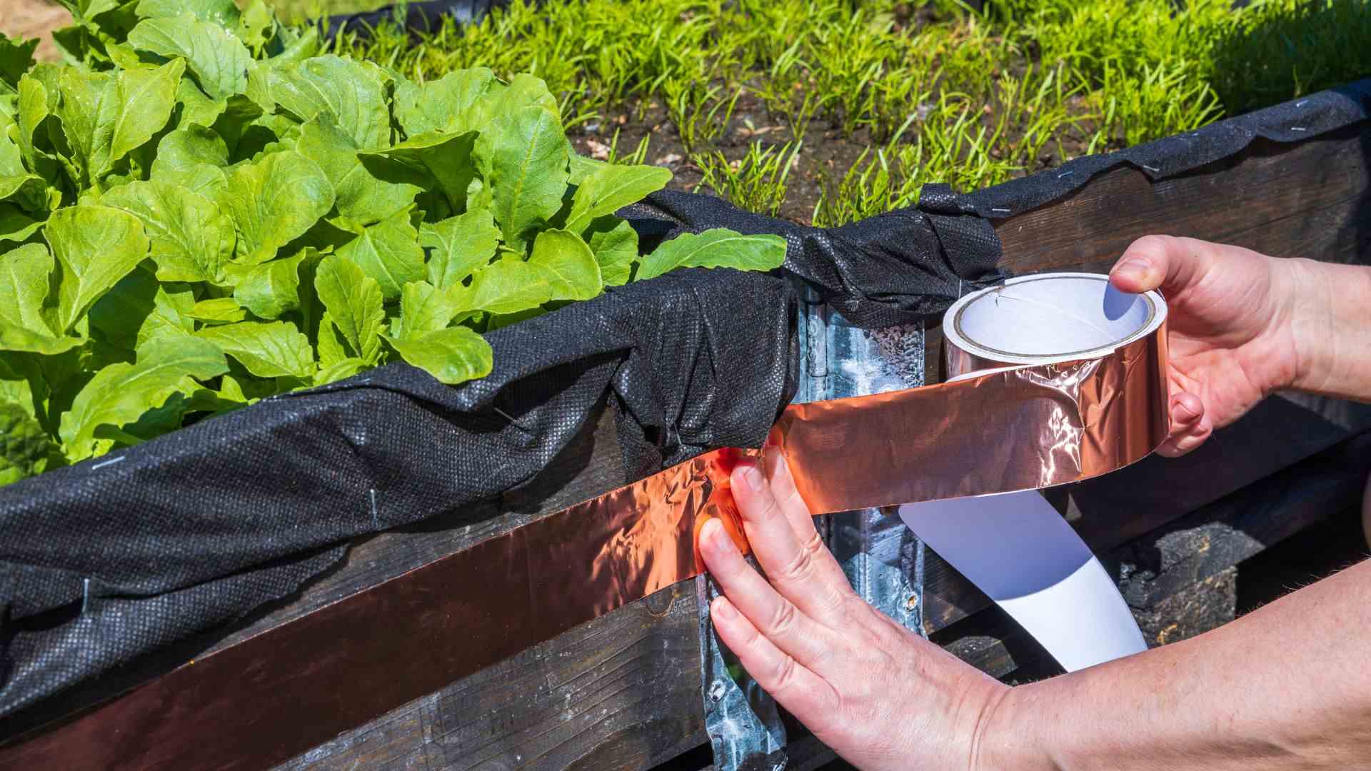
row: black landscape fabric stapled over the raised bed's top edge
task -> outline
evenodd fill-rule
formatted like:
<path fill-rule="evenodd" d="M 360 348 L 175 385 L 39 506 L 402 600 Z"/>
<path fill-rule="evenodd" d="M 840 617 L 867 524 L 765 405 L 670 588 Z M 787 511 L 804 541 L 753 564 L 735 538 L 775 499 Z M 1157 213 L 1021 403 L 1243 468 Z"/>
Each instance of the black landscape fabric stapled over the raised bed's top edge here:
<path fill-rule="evenodd" d="M 1367 119 L 1371 81 L 832 229 L 659 192 L 644 248 L 709 228 L 779 233 L 777 274 L 680 270 L 487 336 L 495 370 L 447 387 L 407 365 L 282 395 L 0 488 L 0 717 L 296 591 L 350 539 L 496 499 L 602 399 L 625 472 L 755 447 L 795 392 L 794 281 L 866 328 L 942 313 L 1004 276 L 990 220 L 1132 165 L 1154 180 Z"/>

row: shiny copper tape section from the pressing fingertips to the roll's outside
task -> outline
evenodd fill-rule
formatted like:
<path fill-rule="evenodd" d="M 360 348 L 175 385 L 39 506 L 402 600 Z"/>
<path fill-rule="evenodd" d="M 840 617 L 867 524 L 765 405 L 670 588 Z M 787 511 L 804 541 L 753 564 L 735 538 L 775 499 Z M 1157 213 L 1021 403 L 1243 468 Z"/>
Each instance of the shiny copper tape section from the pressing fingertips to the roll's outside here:
<path fill-rule="evenodd" d="M 951 376 L 1005 366 L 949 348 Z M 791 405 L 769 442 L 816 514 L 1080 482 L 1167 438 L 1165 362 L 1163 324 L 1101 358 Z"/>

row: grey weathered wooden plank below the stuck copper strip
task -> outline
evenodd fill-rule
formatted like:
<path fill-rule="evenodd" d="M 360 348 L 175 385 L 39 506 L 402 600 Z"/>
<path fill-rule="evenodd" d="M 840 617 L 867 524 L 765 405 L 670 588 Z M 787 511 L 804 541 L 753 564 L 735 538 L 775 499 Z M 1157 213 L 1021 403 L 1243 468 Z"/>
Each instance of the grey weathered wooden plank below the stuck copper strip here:
<path fill-rule="evenodd" d="M 707 741 L 698 628 L 684 582 L 277 768 L 646 768 Z"/>

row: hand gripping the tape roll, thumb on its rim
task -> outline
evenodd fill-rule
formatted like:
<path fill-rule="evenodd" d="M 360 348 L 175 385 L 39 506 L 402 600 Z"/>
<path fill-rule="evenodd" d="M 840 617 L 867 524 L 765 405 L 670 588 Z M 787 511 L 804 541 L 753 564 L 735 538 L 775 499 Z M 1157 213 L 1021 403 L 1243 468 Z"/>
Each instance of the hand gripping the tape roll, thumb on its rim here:
<path fill-rule="evenodd" d="M 1169 310 L 1171 436 L 1160 454 L 1194 450 L 1294 383 L 1304 262 L 1171 236 L 1138 239 L 1119 258 L 1113 285 L 1161 289 Z"/>

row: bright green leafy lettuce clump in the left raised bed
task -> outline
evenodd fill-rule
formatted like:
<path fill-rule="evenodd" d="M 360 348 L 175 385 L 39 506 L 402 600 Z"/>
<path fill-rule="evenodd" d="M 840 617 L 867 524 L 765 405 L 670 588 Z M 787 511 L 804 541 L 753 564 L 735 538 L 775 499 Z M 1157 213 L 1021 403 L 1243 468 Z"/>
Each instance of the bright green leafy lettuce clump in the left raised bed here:
<path fill-rule="evenodd" d="M 71 0 L 67 62 L 0 36 L 0 483 L 776 236 L 640 255 L 670 173 L 577 156 L 543 81 L 318 55 L 260 0 Z"/>

